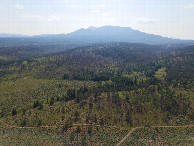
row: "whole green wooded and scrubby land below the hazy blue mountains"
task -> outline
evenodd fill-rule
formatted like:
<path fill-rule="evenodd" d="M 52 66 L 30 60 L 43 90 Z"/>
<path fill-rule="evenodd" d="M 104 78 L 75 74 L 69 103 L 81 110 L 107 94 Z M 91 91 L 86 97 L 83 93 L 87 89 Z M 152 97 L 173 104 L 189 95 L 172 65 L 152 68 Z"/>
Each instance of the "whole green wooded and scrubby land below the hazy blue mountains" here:
<path fill-rule="evenodd" d="M 181 44 L 1 46 L 0 145 L 116 145 L 137 127 L 123 145 L 192 145 L 193 59 Z"/>

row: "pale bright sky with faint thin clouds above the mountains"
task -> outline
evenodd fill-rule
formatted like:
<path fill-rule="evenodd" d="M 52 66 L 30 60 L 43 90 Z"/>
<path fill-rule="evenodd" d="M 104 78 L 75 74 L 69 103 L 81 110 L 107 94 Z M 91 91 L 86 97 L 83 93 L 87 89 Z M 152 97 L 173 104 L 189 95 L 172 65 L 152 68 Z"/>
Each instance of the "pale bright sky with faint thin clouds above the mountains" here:
<path fill-rule="evenodd" d="M 194 40 L 194 0 L 0 0 L 0 33 L 60 34 L 105 25 Z"/>

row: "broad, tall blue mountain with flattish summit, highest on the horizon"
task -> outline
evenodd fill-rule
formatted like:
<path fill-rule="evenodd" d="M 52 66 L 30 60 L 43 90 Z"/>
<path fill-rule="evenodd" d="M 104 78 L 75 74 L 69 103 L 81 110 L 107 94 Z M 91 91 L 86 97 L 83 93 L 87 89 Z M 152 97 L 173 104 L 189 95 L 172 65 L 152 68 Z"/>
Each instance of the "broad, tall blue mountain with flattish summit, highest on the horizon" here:
<path fill-rule="evenodd" d="M 180 39 L 172 39 L 154 34 L 147 34 L 134 30 L 130 27 L 119 26 L 103 26 L 89 27 L 88 29 L 79 29 L 75 32 L 66 35 L 71 38 L 83 42 L 129 42 L 129 43 L 144 43 L 144 44 L 174 44 L 186 43 L 194 41 L 185 41 Z"/>

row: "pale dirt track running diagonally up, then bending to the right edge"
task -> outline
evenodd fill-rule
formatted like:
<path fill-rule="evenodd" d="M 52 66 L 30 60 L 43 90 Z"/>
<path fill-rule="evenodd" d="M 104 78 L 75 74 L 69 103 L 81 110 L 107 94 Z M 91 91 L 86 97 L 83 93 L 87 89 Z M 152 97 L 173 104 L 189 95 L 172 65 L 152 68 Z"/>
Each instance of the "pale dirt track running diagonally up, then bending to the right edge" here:
<path fill-rule="evenodd" d="M 178 128 L 178 127 L 194 127 L 194 125 L 183 125 L 183 126 L 151 126 L 151 128 L 171 128 L 171 127 L 174 127 L 174 128 Z M 143 126 L 141 127 L 136 127 L 136 128 L 132 128 L 129 133 L 117 144 L 117 146 L 119 146 L 121 143 L 123 143 L 136 129 L 139 129 L 139 128 L 144 128 Z"/>

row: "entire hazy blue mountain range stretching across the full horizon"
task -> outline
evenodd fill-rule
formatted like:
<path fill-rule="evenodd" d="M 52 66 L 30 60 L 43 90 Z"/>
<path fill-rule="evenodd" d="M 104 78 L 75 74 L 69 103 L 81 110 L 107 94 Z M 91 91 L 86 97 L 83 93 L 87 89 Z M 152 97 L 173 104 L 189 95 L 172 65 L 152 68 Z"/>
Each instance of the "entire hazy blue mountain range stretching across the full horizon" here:
<path fill-rule="evenodd" d="M 193 40 L 180 40 L 147 34 L 130 27 L 103 26 L 79 29 L 68 34 L 45 34 L 36 36 L 0 34 L 0 45 L 17 44 L 91 44 L 106 42 L 128 42 L 144 44 L 194 44 Z"/>

